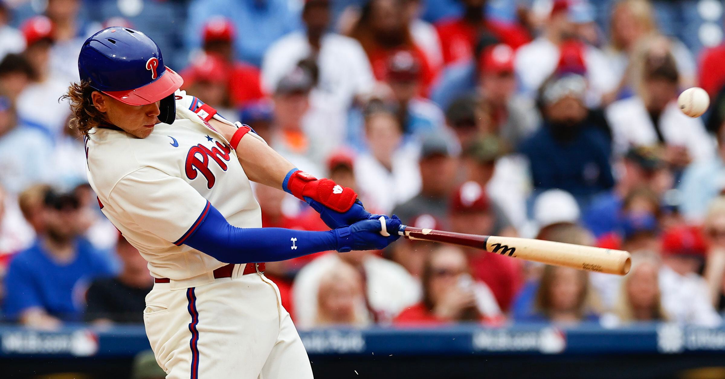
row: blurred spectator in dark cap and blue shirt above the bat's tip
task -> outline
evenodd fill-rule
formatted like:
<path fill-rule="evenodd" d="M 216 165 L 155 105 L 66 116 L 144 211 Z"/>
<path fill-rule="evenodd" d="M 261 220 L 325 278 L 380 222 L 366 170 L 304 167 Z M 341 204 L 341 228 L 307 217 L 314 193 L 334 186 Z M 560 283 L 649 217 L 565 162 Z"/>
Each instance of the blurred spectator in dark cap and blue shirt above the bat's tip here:
<path fill-rule="evenodd" d="M 671 188 L 673 177 L 658 149 L 640 146 L 627 151 L 619 164 L 616 186 L 596 196 L 584 209 L 584 225 L 597 238 L 615 232 L 620 226 L 620 212 L 626 196 L 636 188 L 647 188 L 659 198 Z"/>

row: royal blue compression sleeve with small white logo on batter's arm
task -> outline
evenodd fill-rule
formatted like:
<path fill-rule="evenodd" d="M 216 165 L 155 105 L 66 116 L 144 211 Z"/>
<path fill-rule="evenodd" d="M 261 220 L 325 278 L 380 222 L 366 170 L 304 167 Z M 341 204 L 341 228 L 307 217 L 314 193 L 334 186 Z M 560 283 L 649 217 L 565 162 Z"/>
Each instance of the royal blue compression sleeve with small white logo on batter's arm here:
<path fill-rule="evenodd" d="M 220 262 L 283 261 L 336 250 L 339 244 L 333 230 L 310 232 L 283 228 L 237 228 L 230 225 L 211 204 L 207 204 L 207 208 L 201 220 L 195 222 L 196 229 L 182 243 Z"/>

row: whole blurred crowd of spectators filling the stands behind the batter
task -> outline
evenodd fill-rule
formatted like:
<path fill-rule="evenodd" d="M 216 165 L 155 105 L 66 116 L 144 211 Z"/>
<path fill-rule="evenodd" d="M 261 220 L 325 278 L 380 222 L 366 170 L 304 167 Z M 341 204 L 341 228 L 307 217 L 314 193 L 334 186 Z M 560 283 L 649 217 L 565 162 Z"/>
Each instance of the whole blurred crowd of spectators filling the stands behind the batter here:
<path fill-rule="evenodd" d="M 41 4 L 43 3 L 43 4 Z M 59 97 L 104 26 L 373 213 L 632 253 L 624 278 L 401 240 L 267 264 L 299 328 L 721 325 L 725 44 L 716 0 L 0 0 L 0 314 L 142 322 L 146 262 L 99 211 Z M 705 88 L 689 118 L 676 97 Z M 265 227 L 324 230 L 255 186 Z"/>

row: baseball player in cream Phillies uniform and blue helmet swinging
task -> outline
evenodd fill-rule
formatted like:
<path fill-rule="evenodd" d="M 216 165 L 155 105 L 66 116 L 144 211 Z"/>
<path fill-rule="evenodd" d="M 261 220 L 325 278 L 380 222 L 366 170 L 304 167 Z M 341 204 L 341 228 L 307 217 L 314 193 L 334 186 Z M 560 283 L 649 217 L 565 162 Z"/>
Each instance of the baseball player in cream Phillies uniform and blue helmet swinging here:
<path fill-rule="evenodd" d="M 312 378 L 264 263 L 381 249 L 397 217 L 294 168 L 239 122 L 178 91 L 151 38 L 106 28 L 83 43 L 65 95 L 104 215 L 149 261 L 146 335 L 167 378 Z M 239 161 L 239 164 L 237 164 Z M 249 180 L 307 201 L 333 230 L 261 228 Z M 392 234 L 392 235 L 391 235 Z"/>

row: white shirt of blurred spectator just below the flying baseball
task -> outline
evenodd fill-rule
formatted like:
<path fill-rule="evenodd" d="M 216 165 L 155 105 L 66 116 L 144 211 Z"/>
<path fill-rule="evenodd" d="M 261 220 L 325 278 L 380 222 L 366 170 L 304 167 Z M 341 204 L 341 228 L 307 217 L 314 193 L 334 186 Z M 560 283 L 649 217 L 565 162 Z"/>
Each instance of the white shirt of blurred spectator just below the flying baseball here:
<path fill-rule="evenodd" d="M 639 97 L 615 101 L 606 109 L 606 115 L 612 128 L 616 154 L 625 154 L 631 146 L 659 143 L 652 118 Z M 665 142 L 685 146 L 693 160 L 714 157 L 716 144 L 705 131 L 702 120 L 684 115 L 674 101 L 664 109 L 659 123 Z"/>

